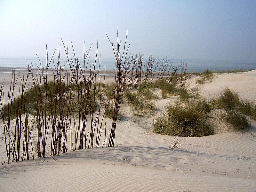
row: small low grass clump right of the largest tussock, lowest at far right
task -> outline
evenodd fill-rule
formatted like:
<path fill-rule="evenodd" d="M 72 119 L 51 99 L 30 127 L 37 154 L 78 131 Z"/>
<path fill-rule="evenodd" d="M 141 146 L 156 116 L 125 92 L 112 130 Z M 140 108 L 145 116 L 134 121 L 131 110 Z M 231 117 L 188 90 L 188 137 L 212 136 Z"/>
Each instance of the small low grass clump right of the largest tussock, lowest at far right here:
<path fill-rule="evenodd" d="M 221 113 L 221 119 L 226 122 L 228 130 L 246 131 L 251 125 L 246 116 L 236 110 L 225 110 Z"/>

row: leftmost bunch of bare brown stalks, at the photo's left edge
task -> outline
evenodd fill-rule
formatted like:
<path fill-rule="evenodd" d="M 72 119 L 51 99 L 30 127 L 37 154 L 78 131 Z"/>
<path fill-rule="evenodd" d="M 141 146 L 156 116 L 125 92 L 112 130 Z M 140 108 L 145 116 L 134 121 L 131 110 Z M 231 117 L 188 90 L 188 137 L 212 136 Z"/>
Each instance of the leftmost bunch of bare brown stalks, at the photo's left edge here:
<path fill-rule="evenodd" d="M 29 123 L 29 106 L 27 105 L 28 97 L 28 77 L 31 73 L 31 66 L 28 66 L 26 76 L 20 76 L 20 72 L 15 76 L 15 70 L 12 71 L 12 80 L 8 91 L 8 103 L 5 104 L 4 84 L 1 85 L 1 117 L 4 125 L 4 139 L 8 163 L 12 161 L 21 161 L 29 159 L 29 141 L 31 142 L 31 129 Z M 17 96 L 14 95 L 17 81 L 20 80 Z M 3 102 L 2 102 L 3 97 Z M 24 114 L 24 118 L 22 115 Z M 11 130 L 11 119 L 14 118 L 14 130 Z M 23 135 L 22 135 L 22 134 Z M 33 148 L 32 148 L 33 150 Z M 21 154 L 20 154 L 21 153 Z M 11 158 L 12 155 L 12 158 Z"/>

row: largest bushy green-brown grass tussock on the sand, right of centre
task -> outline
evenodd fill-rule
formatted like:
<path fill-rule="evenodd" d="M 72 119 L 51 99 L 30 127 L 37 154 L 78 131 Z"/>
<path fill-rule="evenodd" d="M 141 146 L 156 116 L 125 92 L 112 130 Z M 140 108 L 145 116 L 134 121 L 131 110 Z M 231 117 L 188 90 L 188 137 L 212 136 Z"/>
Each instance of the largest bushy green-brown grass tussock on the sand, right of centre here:
<path fill-rule="evenodd" d="M 200 137 L 215 134 L 215 130 L 208 115 L 208 109 L 201 101 L 183 106 L 167 105 L 165 113 L 158 116 L 153 122 L 155 133 L 182 136 Z"/>

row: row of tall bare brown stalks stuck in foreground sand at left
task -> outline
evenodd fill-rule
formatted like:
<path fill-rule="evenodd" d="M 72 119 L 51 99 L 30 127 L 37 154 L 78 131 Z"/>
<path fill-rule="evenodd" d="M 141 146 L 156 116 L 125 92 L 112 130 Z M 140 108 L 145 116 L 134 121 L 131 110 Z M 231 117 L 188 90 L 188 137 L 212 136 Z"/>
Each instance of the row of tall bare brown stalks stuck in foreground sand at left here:
<path fill-rule="evenodd" d="M 92 68 L 87 68 L 86 60 L 89 51 L 84 49 L 84 60 L 79 61 L 73 49 L 73 58 L 71 59 L 68 54 L 68 46 L 64 43 L 68 69 L 64 69 L 65 64 L 63 66 L 60 64 L 59 50 L 57 62 L 53 64 L 54 53 L 51 58 L 48 58 L 47 47 L 46 63 L 44 65 L 40 61 L 38 74 L 31 73 L 31 66 L 28 66 L 26 75 L 13 69 L 7 99 L 4 97 L 4 84 L 0 89 L 0 115 L 3 119 L 2 126 L 8 163 L 29 159 L 30 153 L 34 159 L 33 148 L 38 158 L 44 158 L 48 153 L 54 156 L 67 152 L 68 130 L 70 133 L 75 132 L 74 135 L 70 134 L 70 150 L 99 147 L 100 138 L 103 135 L 107 147 L 106 128 L 103 130 L 106 125 L 106 117 L 112 119 L 108 147 L 114 145 L 116 120 L 121 119 L 119 109 L 130 62 L 126 60 L 126 56 L 123 58 L 123 55 L 127 54 L 121 51 L 119 39 L 116 49 L 114 49 L 113 43 L 111 45 L 113 50 L 116 50 L 116 76 L 114 83 L 106 84 L 106 86 L 105 76 L 103 83 L 99 83 L 100 76 L 95 68 L 97 52 Z M 50 68 L 51 65 L 54 67 Z M 98 65 L 100 68 L 100 60 Z M 88 70 L 90 72 L 87 72 Z M 48 77 L 50 71 L 53 74 L 53 81 L 50 81 Z M 28 88 L 30 76 L 32 77 L 30 82 L 32 86 Z M 16 88 L 18 88 L 17 94 Z M 104 108 L 104 103 L 110 105 L 105 105 Z M 104 113 L 101 112 L 102 109 L 104 109 Z M 29 119 L 30 114 L 34 115 L 33 122 Z M 73 117 L 76 117 L 77 122 Z M 12 119 L 15 122 L 14 128 L 11 127 Z M 72 119 L 74 119 L 73 122 Z M 104 119 L 105 121 L 103 121 Z M 35 139 L 31 138 L 31 127 L 33 126 L 37 131 Z M 49 129 L 52 130 L 49 131 Z M 102 134 L 103 131 L 105 134 Z M 48 134 L 51 134 L 50 142 Z M 73 140 L 72 137 L 74 137 Z"/>

